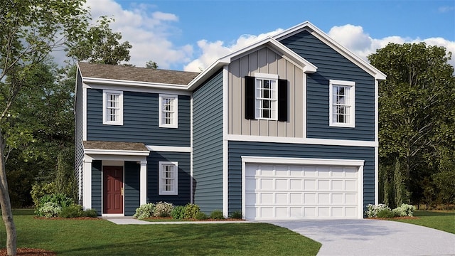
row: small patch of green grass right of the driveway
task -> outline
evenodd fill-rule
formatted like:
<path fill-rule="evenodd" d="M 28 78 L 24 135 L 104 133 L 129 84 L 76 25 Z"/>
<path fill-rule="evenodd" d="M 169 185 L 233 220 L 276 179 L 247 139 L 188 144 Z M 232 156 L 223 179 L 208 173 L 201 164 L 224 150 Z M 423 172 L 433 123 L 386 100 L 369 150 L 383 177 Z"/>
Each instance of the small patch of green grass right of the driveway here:
<path fill-rule="evenodd" d="M 450 211 L 432 211 L 416 210 L 415 219 L 394 219 L 403 223 L 422 225 L 428 228 L 446 231 L 455 234 L 455 210 Z"/>

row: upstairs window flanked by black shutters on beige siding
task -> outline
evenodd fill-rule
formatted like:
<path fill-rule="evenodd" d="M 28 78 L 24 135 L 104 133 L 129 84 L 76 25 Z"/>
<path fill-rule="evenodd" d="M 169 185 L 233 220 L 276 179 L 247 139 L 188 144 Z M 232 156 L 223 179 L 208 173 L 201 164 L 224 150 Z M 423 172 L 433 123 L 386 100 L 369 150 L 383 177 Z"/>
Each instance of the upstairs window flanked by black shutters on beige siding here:
<path fill-rule="evenodd" d="M 287 80 L 262 73 L 245 77 L 245 118 L 287 121 Z"/>

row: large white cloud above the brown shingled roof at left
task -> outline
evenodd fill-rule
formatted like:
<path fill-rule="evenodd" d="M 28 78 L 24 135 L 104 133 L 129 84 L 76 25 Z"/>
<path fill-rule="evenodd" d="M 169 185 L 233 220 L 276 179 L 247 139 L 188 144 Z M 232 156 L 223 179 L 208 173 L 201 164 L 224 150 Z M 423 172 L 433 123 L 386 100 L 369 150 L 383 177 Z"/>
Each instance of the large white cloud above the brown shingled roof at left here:
<path fill-rule="evenodd" d="M 153 11 L 153 5 L 141 4 L 126 10 L 114 0 L 87 0 L 93 22 L 100 16 L 114 18 L 110 24 L 112 31 L 122 33 L 122 41 L 129 41 L 129 63 L 144 67 L 148 60 L 158 63 L 159 68 L 171 68 L 188 63 L 193 55 L 193 46 L 176 46 L 171 36 L 179 33 L 172 23 L 178 16 L 161 11 Z"/>

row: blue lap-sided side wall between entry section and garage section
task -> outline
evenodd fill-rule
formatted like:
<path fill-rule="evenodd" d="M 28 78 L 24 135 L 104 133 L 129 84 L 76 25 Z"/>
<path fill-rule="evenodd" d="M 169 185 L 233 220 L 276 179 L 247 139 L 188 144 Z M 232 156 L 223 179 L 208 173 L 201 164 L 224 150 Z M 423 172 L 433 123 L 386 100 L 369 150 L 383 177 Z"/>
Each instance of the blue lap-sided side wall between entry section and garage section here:
<path fill-rule="evenodd" d="M 223 209 L 223 72 L 193 92 L 193 202 Z"/>

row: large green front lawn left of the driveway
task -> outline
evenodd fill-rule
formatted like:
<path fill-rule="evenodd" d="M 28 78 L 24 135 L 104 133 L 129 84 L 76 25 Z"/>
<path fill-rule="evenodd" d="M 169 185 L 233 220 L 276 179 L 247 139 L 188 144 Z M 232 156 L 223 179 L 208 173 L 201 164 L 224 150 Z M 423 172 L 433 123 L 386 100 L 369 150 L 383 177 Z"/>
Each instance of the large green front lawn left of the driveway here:
<path fill-rule="evenodd" d="M 267 223 L 115 225 L 107 220 L 44 220 L 14 210 L 18 247 L 58 255 L 316 255 L 319 242 Z M 5 230 L 0 224 L 0 244 Z"/>

